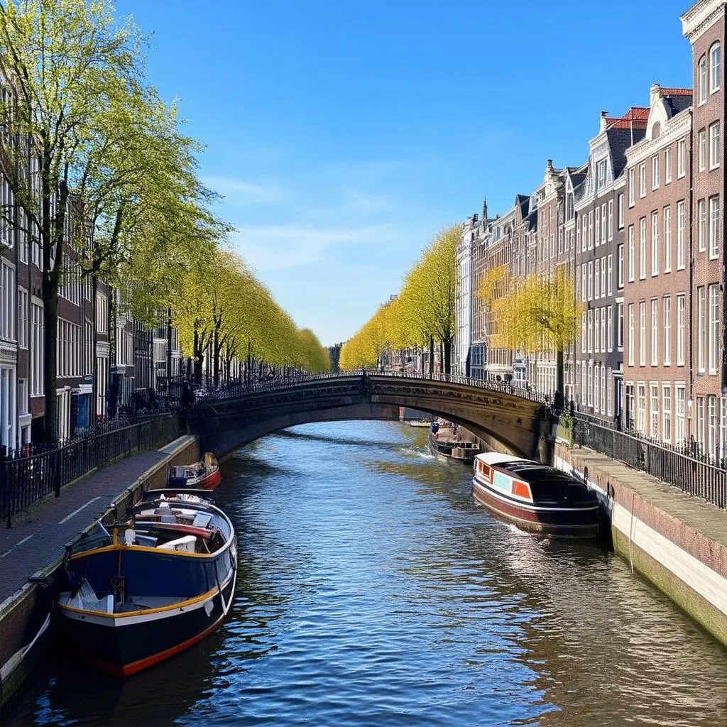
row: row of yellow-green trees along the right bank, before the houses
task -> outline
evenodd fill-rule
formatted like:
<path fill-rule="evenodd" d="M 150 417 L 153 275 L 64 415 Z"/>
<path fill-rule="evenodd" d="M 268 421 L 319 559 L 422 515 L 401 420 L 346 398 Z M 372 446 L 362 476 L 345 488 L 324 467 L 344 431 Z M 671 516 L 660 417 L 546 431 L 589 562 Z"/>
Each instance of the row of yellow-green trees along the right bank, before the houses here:
<path fill-rule="evenodd" d="M 461 225 L 443 230 L 404 280 L 401 293 L 382 305 L 341 350 L 341 368 L 374 367 L 387 351 L 435 344 L 443 371 L 451 371 L 457 331 L 457 245 Z M 489 309 L 489 345 L 521 353 L 555 355 L 558 392 L 564 390 L 564 352 L 575 340 L 582 313 L 574 284 L 561 266 L 538 276 L 513 278 L 507 265 L 486 273 L 475 292 Z"/>

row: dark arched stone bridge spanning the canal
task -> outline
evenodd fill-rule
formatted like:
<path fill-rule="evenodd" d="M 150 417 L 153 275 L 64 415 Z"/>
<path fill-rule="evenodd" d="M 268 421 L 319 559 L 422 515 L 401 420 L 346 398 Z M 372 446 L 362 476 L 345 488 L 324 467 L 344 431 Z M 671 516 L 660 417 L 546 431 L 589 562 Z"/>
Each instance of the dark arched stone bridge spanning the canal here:
<path fill-rule="evenodd" d="M 492 449 L 552 457 L 547 406 L 507 385 L 460 377 L 334 374 L 211 393 L 190 410 L 190 430 L 218 458 L 267 434 L 310 422 L 398 419 L 419 409 L 466 427 Z"/>

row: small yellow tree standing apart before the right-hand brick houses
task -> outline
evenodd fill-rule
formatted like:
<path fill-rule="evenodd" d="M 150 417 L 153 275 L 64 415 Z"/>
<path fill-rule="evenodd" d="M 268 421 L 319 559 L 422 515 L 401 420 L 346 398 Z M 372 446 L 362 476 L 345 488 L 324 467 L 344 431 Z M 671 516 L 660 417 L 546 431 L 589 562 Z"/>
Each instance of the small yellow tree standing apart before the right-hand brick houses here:
<path fill-rule="evenodd" d="M 503 266 L 504 267 L 504 266 Z M 509 294 L 503 285 L 509 281 Z M 582 305 L 564 265 L 550 276 L 532 274 L 510 280 L 507 270 L 495 268 L 478 295 L 491 305 L 497 321 L 492 344 L 501 348 L 555 352 L 556 405 L 562 406 L 564 354 L 577 337 Z"/>

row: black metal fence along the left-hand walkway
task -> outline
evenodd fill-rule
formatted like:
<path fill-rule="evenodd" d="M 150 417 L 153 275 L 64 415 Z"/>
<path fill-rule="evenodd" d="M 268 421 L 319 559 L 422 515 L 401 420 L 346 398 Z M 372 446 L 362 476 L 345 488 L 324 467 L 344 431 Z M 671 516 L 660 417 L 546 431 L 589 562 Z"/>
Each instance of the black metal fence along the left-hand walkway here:
<path fill-rule="evenodd" d="M 158 449 L 183 433 L 182 415 L 156 414 L 137 421 L 109 422 L 58 445 L 0 449 L 0 513 L 14 515 L 64 485 L 116 459 Z"/>

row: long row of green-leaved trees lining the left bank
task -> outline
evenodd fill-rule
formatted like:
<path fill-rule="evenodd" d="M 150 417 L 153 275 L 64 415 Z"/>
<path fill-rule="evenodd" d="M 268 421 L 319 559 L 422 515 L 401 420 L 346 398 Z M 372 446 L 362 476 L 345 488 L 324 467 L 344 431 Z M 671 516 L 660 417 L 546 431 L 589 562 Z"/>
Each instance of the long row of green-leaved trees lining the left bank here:
<path fill-rule="evenodd" d="M 222 350 L 240 347 L 275 360 L 290 347 L 301 364 L 322 366 L 312 334 L 297 332 L 244 263 L 222 252 L 230 227 L 199 180 L 201 145 L 146 78 L 145 41 L 132 20 L 115 20 L 108 0 L 8 0 L 0 8 L 1 225 L 39 255 L 45 390 L 56 389 L 69 253 L 94 286 L 101 279 L 129 291 L 140 320 L 154 325 L 160 311 L 176 311 L 196 361 L 211 337 L 217 371 Z M 218 288 L 201 303 L 218 273 L 233 282 L 238 308 Z M 238 313 L 243 323 L 233 321 Z M 263 326 L 265 314 L 272 322 Z M 46 430 L 56 438 L 55 396 L 46 398 Z"/>

